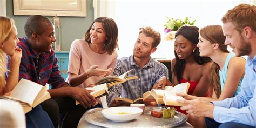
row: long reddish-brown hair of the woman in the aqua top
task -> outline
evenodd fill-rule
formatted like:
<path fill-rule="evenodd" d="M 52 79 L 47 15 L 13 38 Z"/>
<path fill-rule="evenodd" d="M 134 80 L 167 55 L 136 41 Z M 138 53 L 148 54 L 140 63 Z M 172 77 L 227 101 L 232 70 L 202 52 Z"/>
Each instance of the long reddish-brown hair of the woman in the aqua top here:
<path fill-rule="evenodd" d="M 227 50 L 227 45 L 225 45 L 226 37 L 223 35 L 223 30 L 220 25 L 208 25 L 200 29 L 199 31 L 201 37 L 209 41 L 210 43 L 219 44 L 219 48 L 223 52 L 229 52 Z M 221 89 L 220 89 L 220 78 L 219 78 L 220 67 L 217 63 L 213 62 L 211 71 L 210 71 L 210 86 L 214 89 L 216 97 L 219 98 Z"/>

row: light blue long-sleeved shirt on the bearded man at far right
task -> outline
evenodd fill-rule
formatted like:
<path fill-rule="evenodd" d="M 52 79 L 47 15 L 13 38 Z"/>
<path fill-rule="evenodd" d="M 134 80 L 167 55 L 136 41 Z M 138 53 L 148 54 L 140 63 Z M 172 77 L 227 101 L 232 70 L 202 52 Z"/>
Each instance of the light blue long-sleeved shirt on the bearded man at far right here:
<path fill-rule="evenodd" d="M 220 123 L 237 122 L 256 127 L 256 56 L 247 58 L 241 91 L 233 98 L 212 102 L 213 117 Z"/>

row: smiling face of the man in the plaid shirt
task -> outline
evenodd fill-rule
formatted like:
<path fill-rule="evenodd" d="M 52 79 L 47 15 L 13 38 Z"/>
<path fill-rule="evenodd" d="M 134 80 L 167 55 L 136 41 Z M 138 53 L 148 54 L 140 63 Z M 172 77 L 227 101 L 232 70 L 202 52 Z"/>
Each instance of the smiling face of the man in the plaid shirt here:
<path fill-rule="evenodd" d="M 52 44 L 53 42 L 56 42 L 54 33 L 55 29 L 53 25 L 49 25 L 42 34 L 37 33 L 36 52 L 51 52 Z"/>

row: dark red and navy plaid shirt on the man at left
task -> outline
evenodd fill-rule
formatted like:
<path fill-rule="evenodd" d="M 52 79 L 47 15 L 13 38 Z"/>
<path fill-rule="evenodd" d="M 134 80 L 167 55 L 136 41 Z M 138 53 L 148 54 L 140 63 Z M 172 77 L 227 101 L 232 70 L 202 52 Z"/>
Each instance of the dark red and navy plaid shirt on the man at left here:
<path fill-rule="evenodd" d="M 19 38 L 17 45 L 22 49 L 21 65 L 19 66 L 19 79 L 29 79 L 41 85 L 51 84 L 52 89 L 65 84 L 60 76 L 57 57 L 51 49 L 50 53 L 38 53 L 33 50 L 26 37 Z"/>

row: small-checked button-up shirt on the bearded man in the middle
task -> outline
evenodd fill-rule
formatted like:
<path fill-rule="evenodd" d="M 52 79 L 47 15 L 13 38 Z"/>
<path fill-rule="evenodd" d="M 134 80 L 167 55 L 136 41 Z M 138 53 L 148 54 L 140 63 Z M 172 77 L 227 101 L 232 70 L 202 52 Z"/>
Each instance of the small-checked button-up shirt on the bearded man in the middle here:
<path fill-rule="evenodd" d="M 113 76 L 120 76 L 131 69 L 133 70 L 127 75 L 138 76 L 138 79 L 128 80 L 123 84 L 111 86 L 109 88 L 109 95 L 106 96 L 108 105 L 111 104 L 114 98 L 120 96 L 131 100 L 143 97 L 143 93 L 150 91 L 160 77 L 165 76 L 168 78 L 168 69 L 164 64 L 150 58 L 149 62 L 140 69 L 136 62 L 134 62 L 133 56 L 118 59 Z"/>

